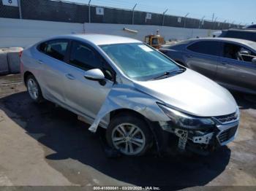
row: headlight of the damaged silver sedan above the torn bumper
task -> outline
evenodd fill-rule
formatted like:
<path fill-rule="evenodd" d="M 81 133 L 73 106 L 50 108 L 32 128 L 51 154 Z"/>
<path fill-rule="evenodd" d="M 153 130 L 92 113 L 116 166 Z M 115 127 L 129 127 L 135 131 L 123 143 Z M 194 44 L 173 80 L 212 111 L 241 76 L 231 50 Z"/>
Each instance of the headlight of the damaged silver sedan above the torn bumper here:
<path fill-rule="evenodd" d="M 171 122 L 178 127 L 187 129 L 202 129 L 213 128 L 215 125 L 214 120 L 211 120 L 209 117 L 194 117 L 189 114 L 178 112 L 177 110 L 171 109 L 167 106 L 163 106 L 162 104 L 158 104 L 158 106 L 168 117 L 170 117 Z"/>

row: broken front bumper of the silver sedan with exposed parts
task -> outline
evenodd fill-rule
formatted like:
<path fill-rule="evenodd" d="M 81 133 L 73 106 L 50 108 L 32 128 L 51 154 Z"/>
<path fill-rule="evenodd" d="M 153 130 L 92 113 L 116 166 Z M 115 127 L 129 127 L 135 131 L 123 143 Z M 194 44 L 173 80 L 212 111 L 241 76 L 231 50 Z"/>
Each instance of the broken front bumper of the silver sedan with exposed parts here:
<path fill-rule="evenodd" d="M 181 152 L 190 150 L 200 155 L 207 155 L 217 147 L 225 146 L 236 138 L 239 120 L 232 122 L 218 122 L 214 128 L 206 130 L 184 129 L 172 122 L 159 122 L 163 130 L 173 133 L 178 138 L 177 147 Z"/>

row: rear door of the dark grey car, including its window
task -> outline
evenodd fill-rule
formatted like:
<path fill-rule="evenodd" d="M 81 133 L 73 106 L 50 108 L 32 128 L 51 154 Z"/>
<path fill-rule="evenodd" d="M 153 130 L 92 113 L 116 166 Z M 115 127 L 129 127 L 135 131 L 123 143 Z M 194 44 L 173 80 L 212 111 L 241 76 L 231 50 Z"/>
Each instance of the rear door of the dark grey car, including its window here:
<path fill-rule="evenodd" d="M 199 41 L 189 44 L 184 54 L 185 63 L 189 69 L 211 79 L 216 79 L 219 64 L 221 43 L 218 41 Z"/>

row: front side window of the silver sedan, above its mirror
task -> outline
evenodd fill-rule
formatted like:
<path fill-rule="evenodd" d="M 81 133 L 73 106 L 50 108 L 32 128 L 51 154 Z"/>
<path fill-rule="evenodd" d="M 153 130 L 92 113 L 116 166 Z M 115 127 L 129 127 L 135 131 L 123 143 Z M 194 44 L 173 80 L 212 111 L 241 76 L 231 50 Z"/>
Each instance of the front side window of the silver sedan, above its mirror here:
<path fill-rule="evenodd" d="M 72 42 L 69 63 L 85 71 L 89 69 L 101 69 L 99 57 L 91 48 L 80 42 Z"/>

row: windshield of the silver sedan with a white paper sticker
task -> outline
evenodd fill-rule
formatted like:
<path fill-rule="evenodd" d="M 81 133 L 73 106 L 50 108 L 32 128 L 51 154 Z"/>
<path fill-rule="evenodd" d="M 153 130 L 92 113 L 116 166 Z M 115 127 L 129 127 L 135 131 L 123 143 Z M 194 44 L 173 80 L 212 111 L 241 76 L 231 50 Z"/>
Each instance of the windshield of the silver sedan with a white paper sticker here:
<path fill-rule="evenodd" d="M 176 63 L 143 43 L 105 44 L 100 47 L 131 79 L 145 81 L 180 69 Z"/>

